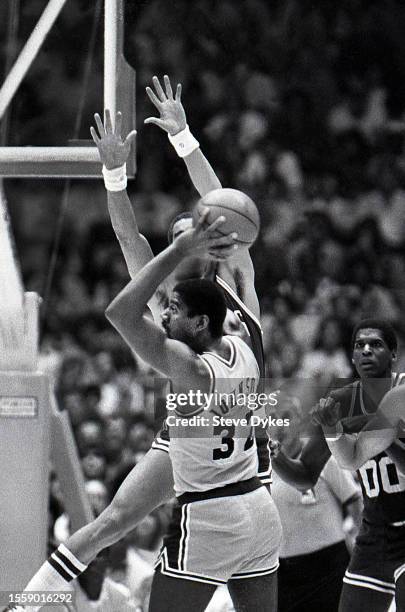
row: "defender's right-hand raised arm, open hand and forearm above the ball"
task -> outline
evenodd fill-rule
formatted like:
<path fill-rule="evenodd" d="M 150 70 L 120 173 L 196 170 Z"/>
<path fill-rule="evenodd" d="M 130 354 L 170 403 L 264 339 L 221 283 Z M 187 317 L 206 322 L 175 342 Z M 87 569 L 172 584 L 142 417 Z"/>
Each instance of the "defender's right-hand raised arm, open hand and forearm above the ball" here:
<path fill-rule="evenodd" d="M 188 127 L 186 113 L 181 103 L 181 85 L 177 85 L 176 94 L 173 95 L 169 77 L 165 75 L 163 80 L 166 91 L 163 90 L 156 76 L 152 79 L 155 91 L 150 87 L 146 88 L 150 101 L 159 111 L 159 117 L 148 117 L 145 119 L 145 123 L 154 123 L 167 132 L 170 137 L 178 137 Z M 182 156 L 182 159 L 186 164 L 194 187 L 200 196 L 203 197 L 213 189 L 220 189 L 221 183 L 209 161 L 199 148 L 197 141 L 195 141 L 194 146 L 194 150 L 184 157 Z"/>

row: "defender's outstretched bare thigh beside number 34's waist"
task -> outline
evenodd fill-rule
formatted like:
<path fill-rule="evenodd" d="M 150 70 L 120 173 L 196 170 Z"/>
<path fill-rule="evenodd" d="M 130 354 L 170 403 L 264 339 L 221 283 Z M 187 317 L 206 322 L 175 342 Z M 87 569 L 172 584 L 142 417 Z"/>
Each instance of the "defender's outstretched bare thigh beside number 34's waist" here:
<path fill-rule="evenodd" d="M 125 478 L 112 505 L 136 524 L 173 495 L 170 457 L 166 452 L 151 449 Z"/>

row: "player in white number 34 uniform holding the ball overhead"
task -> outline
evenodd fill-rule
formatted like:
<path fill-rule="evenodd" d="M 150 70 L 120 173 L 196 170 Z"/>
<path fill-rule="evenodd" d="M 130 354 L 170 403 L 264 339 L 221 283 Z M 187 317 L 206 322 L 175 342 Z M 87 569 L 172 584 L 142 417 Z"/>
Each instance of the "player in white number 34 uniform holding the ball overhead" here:
<path fill-rule="evenodd" d="M 164 330 L 144 314 L 162 281 L 187 257 L 222 259 L 238 246 L 235 233 L 218 237 L 223 217 L 207 227 L 209 212 L 137 274 L 106 316 L 133 351 L 171 380 L 174 394 L 238 392 L 246 398 L 258 388 L 259 366 L 242 339 L 223 335 L 226 304 L 212 281 L 174 287 L 162 315 Z M 177 506 L 153 580 L 150 612 L 202 611 L 216 586 L 228 581 L 236 609 L 276 610 L 279 517 L 256 475 L 247 402 L 230 401 L 227 409 L 233 424 L 225 438 L 209 401 L 175 409 L 180 418 L 169 454 Z M 188 418 L 196 415 L 203 421 L 190 426 Z M 240 581 L 244 588 L 235 587 Z"/>

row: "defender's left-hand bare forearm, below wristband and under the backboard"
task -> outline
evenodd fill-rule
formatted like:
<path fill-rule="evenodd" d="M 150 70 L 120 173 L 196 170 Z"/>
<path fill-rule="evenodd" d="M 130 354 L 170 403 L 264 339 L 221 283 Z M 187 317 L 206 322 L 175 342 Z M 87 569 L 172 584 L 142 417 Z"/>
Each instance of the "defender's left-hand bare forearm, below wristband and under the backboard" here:
<path fill-rule="evenodd" d="M 107 191 L 108 212 L 131 278 L 152 258 L 148 241 L 138 224 L 126 190 Z"/>

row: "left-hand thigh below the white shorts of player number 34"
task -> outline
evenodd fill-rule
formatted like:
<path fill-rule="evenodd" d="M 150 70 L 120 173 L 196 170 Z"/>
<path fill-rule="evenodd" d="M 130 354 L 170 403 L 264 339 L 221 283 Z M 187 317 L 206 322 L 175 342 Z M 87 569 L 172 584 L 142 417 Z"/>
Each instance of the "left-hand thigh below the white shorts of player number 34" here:
<path fill-rule="evenodd" d="M 149 612 L 203 612 L 216 585 L 172 578 L 156 571 L 152 582 Z"/>

